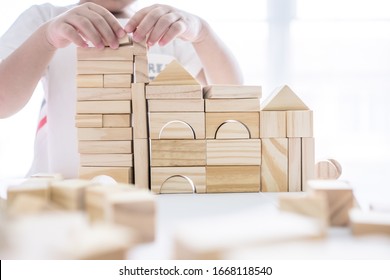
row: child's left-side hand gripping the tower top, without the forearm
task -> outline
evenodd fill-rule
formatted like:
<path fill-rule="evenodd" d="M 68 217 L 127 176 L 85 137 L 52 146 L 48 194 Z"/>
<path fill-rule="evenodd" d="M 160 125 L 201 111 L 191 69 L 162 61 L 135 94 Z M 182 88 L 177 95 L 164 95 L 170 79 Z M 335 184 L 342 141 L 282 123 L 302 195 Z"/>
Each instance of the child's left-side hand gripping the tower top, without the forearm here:
<path fill-rule="evenodd" d="M 118 38 L 126 35 L 117 19 L 105 8 L 91 2 L 79 5 L 55 17 L 47 24 L 46 38 L 55 48 L 70 43 L 87 47 L 90 41 L 95 47 L 109 45 L 118 48 Z"/>

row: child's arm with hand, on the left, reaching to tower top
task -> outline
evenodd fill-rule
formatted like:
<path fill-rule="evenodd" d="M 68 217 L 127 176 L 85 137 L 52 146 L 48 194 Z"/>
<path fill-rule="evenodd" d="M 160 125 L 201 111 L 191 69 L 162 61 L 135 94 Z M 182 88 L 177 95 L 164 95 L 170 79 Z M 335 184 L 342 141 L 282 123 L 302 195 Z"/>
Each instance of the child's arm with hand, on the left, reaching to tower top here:
<path fill-rule="evenodd" d="M 126 33 L 116 18 L 93 3 L 77 6 L 46 22 L 12 54 L 0 62 L 0 118 L 22 109 L 58 48 L 86 41 L 102 48 L 119 46 Z"/>

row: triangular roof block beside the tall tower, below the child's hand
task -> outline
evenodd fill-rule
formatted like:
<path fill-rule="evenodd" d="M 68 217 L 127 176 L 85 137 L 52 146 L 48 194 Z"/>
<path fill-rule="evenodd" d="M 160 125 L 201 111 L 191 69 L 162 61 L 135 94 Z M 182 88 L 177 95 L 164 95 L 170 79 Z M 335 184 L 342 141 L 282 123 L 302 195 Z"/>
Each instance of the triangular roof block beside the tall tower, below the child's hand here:
<path fill-rule="evenodd" d="M 173 60 L 160 74 L 149 83 L 152 86 L 158 85 L 200 85 L 184 67 Z"/>

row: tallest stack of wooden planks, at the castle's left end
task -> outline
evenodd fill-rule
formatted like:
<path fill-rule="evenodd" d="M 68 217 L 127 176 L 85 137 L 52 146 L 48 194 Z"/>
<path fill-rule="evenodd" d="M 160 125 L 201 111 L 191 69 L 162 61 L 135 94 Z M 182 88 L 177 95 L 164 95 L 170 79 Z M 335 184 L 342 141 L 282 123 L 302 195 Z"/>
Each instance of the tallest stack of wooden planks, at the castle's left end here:
<path fill-rule="evenodd" d="M 115 50 L 79 48 L 77 59 L 79 175 L 91 179 L 103 173 L 132 183 L 132 84 L 148 81 L 146 46 L 125 37 Z"/>

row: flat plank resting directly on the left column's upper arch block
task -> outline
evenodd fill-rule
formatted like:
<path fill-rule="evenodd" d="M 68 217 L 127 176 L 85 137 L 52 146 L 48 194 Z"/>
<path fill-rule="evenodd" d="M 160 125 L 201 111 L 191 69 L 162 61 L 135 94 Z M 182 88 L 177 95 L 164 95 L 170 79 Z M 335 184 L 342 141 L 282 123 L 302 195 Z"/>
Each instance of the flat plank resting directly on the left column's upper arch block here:
<path fill-rule="evenodd" d="M 202 99 L 151 99 L 148 100 L 149 112 L 204 112 Z"/>

